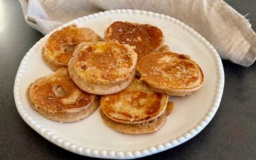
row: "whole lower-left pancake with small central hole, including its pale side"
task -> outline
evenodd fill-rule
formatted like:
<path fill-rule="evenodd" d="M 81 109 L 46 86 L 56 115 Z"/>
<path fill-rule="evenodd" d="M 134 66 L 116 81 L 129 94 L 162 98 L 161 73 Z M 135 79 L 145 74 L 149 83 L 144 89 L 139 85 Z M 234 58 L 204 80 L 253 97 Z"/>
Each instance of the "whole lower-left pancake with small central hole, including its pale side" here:
<path fill-rule="evenodd" d="M 67 68 L 37 79 L 28 88 L 33 109 L 51 120 L 74 122 L 97 109 L 95 95 L 80 90 L 68 75 Z"/>

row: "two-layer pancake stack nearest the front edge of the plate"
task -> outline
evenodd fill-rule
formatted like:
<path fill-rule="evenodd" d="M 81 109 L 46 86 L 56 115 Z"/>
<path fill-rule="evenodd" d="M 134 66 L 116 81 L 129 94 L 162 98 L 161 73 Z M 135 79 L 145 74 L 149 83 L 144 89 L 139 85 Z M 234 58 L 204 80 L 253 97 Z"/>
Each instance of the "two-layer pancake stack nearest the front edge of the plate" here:
<path fill-rule="evenodd" d="M 101 97 L 100 115 L 104 124 L 116 131 L 148 133 L 157 131 L 166 121 L 173 108 L 167 104 L 168 95 L 153 92 L 146 83 L 135 79 L 125 90 Z"/>

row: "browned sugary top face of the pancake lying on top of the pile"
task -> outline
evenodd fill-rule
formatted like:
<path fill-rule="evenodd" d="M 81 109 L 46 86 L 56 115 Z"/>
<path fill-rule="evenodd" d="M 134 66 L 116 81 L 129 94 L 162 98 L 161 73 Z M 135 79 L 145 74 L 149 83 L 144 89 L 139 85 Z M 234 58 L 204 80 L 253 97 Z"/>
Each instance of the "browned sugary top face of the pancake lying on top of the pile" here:
<path fill-rule="evenodd" d="M 79 51 L 74 68 L 88 83 L 122 79 L 131 74 L 137 60 L 136 53 L 128 47 L 117 41 L 90 44 Z"/>

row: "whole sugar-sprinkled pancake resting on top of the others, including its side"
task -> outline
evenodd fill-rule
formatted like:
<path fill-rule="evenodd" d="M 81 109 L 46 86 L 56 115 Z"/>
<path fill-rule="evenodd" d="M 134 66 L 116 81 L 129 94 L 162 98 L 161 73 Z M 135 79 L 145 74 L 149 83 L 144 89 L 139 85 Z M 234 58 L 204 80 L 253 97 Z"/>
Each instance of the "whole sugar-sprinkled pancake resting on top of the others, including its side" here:
<path fill-rule="evenodd" d="M 120 92 L 131 84 L 137 54 L 116 40 L 81 44 L 68 70 L 74 83 L 88 93 L 106 95 Z"/>

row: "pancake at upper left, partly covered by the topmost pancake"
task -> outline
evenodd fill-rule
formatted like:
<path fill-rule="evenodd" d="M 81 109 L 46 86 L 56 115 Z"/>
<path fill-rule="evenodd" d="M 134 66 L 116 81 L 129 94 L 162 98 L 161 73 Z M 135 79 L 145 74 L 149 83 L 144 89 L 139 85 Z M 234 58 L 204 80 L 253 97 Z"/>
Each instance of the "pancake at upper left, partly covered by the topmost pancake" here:
<path fill-rule="evenodd" d="M 42 49 L 45 62 L 56 71 L 67 67 L 73 51 L 81 42 L 97 42 L 102 38 L 90 28 L 77 28 L 75 24 L 52 33 Z"/>

